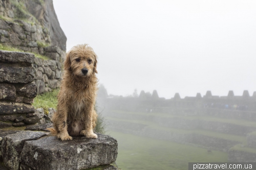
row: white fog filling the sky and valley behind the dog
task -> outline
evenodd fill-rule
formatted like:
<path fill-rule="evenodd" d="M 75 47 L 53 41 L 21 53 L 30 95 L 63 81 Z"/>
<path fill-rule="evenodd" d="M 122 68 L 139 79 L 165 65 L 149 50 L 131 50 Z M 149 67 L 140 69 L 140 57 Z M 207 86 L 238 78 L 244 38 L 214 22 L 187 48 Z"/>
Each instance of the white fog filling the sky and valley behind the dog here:
<path fill-rule="evenodd" d="M 136 166 L 156 163 L 144 156 L 140 160 L 144 152 L 160 153 L 173 169 L 177 162 L 181 166 L 176 169 L 185 169 L 188 161 L 251 161 L 246 156 L 236 160 L 230 149 L 250 142 L 246 135 L 256 130 L 256 1 L 53 4 L 68 39 L 67 51 L 88 43 L 98 55 L 97 77 L 104 94 L 97 102 L 108 130 L 118 139 L 120 168 L 150 169 Z M 153 90 L 159 98 L 152 96 Z M 185 98 L 197 93 L 200 98 Z M 152 145 L 136 145 L 148 138 Z M 172 144 L 159 144 L 166 141 Z M 165 148 L 155 148 L 154 142 Z M 177 148 L 182 161 L 168 155 Z M 201 157 L 186 157 L 184 149 Z"/>

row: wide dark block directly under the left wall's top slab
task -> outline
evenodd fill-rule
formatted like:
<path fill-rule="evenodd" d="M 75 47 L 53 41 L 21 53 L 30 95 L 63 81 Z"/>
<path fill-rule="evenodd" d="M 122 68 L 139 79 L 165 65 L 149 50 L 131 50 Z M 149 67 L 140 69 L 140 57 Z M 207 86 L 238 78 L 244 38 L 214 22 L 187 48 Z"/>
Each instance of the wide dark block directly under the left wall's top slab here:
<path fill-rule="evenodd" d="M 35 68 L 0 65 L 0 75 L 0 82 L 30 83 L 35 79 Z"/>

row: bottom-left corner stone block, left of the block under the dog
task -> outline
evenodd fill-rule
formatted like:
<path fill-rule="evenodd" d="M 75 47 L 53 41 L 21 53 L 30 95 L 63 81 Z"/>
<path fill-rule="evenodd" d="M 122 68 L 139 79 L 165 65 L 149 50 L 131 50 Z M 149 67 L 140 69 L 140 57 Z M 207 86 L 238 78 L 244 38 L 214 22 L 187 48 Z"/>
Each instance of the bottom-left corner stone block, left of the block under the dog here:
<path fill-rule="evenodd" d="M 20 152 L 22 152 L 26 140 L 36 140 L 46 136 L 44 132 L 21 131 L 7 135 L 1 143 L 4 164 L 9 169 L 18 170 L 20 162 Z"/>

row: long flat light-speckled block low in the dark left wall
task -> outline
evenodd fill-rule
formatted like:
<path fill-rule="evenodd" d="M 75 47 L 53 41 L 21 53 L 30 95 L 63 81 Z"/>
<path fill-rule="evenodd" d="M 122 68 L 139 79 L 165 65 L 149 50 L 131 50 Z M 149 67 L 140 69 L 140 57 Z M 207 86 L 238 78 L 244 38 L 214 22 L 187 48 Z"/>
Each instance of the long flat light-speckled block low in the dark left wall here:
<path fill-rule="evenodd" d="M 35 108 L 31 104 L 0 102 L 0 114 L 34 113 Z"/>

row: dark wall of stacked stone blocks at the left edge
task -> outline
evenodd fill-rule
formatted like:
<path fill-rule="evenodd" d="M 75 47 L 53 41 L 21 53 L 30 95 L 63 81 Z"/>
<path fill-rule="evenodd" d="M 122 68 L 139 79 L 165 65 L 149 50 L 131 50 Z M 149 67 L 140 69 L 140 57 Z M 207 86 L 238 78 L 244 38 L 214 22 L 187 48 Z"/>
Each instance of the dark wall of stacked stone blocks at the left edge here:
<path fill-rule="evenodd" d="M 0 128 L 38 122 L 31 105 L 37 94 L 34 60 L 33 54 L 0 51 Z"/>

